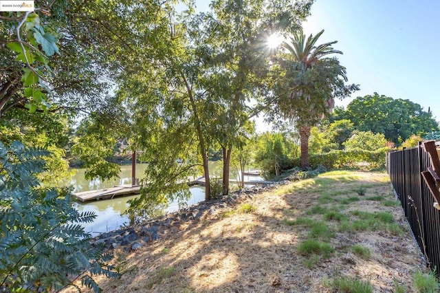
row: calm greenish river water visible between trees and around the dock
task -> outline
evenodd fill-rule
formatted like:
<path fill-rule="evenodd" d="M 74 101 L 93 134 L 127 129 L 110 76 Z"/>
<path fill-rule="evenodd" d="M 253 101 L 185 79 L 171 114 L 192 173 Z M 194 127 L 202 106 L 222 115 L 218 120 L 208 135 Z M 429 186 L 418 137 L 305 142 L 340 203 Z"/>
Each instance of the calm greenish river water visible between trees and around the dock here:
<path fill-rule="evenodd" d="M 210 172 L 219 175 L 219 164 L 221 162 L 210 162 Z M 146 168 L 146 164 L 136 165 L 136 177 L 142 177 Z M 115 185 L 131 184 L 131 165 L 121 166 L 121 173 L 118 179 L 101 182 L 100 180 L 85 180 L 84 169 L 76 169 L 76 173 L 70 182 L 74 186 L 74 192 L 91 191 L 102 188 L 109 188 Z M 245 180 L 263 180 L 259 176 L 245 176 Z M 190 187 L 191 197 L 186 204 L 192 206 L 205 199 L 205 190 L 203 186 Z M 129 208 L 127 203 L 129 199 L 138 197 L 139 195 L 130 195 L 126 197 L 116 197 L 114 199 L 98 200 L 91 202 L 75 202 L 74 207 L 80 211 L 93 211 L 97 217 L 93 223 L 84 223 L 86 232 L 96 233 L 116 230 L 120 226 L 128 225 L 129 218 L 124 212 Z M 179 209 L 178 202 L 171 202 L 163 213 L 173 213 Z"/>

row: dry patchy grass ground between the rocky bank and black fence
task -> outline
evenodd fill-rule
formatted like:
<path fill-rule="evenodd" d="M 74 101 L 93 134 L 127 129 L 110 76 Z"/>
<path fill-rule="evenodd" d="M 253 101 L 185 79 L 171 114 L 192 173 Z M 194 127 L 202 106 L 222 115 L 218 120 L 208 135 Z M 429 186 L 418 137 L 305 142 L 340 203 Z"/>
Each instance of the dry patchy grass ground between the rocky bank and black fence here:
<path fill-rule="evenodd" d="M 358 195 L 361 187 L 366 195 Z M 355 196 L 359 200 L 344 200 Z M 283 186 L 166 228 L 159 241 L 125 255 L 137 270 L 96 280 L 103 292 L 332 292 L 325 280 L 355 276 L 371 283 L 374 292 L 393 292 L 396 282 L 413 292 L 411 276 L 423 263 L 401 208 L 367 196 L 393 200 L 386 174 L 336 171 Z M 327 199 L 319 204 L 322 198 Z M 355 210 L 390 213 L 402 232 L 339 232 L 343 223 L 359 219 Z M 315 240 L 334 252 L 322 257 L 298 251 L 314 234 L 307 224 L 287 223 L 304 217 L 325 221 L 331 237 Z M 353 246 L 369 250 L 369 257 L 353 253 Z"/>

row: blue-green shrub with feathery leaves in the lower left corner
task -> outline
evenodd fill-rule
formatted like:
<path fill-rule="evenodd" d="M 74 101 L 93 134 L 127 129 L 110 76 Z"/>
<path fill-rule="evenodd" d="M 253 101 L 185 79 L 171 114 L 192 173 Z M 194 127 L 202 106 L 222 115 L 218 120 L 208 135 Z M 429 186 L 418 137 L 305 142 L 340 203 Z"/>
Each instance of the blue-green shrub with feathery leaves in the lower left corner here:
<path fill-rule="evenodd" d="M 68 190 L 41 186 L 47 155 L 20 142 L 0 142 L 0 287 L 60 290 L 70 283 L 68 274 L 84 270 L 118 276 L 107 265 L 112 255 L 102 254 L 104 246 L 91 248 L 91 236 L 80 226 L 94 213 L 72 208 Z M 88 274 L 83 282 L 99 292 Z"/>

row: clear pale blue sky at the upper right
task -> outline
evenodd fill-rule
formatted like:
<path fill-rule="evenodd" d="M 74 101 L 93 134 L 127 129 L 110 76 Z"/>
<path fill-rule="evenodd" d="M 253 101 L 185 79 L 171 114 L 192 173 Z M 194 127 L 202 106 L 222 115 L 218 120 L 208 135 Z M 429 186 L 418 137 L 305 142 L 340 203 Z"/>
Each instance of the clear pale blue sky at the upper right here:
<path fill-rule="evenodd" d="M 197 10 L 208 4 L 197 0 Z M 440 121 L 440 1 L 316 0 L 303 28 L 307 35 L 325 30 L 318 43 L 338 41 L 349 83 L 360 85 L 337 106 L 377 92 L 430 107 Z"/>

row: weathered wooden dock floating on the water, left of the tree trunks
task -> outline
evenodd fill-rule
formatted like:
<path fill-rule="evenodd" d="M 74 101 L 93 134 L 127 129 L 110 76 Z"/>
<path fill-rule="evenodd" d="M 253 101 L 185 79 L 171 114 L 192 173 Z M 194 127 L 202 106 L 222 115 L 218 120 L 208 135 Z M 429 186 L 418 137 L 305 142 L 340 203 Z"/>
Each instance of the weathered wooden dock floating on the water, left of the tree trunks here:
<path fill-rule="evenodd" d="M 98 189 L 96 191 L 83 191 L 74 193 L 74 198 L 80 202 L 91 200 L 113 199 L 124 195 L 137 195 L 140 193 L 140 186 L 118 185 L 111 188 Z"/>

